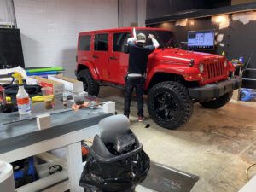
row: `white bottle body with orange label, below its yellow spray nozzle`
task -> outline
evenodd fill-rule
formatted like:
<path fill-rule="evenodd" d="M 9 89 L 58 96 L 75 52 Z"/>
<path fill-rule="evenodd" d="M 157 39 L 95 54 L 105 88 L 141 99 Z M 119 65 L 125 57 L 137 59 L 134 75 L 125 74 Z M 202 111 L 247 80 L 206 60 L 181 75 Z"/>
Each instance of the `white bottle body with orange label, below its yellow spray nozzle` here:
<path fill-rule="evenodd" d="M 20 115 L 27 115 L 31 113 L 30 101 L 29 96 L 26 93 L 26 90 L 23 84 L 19 84 L 19 91 L 16 95 L 19 114 Z"/>

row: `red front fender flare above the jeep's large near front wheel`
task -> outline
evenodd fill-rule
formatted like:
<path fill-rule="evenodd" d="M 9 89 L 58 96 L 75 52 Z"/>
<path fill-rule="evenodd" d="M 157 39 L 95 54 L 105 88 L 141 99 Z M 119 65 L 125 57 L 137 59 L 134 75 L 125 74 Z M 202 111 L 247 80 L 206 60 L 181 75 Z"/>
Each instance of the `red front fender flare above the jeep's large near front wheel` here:
<path fill-rule="evenodd" d="M 200 81 L 201 73 L 197 67 L 189 67 L 186 65 L 172 65 L 167 66 L 166 64 L 160 64 L 152 68 L 147 75 L 147 80 L 145 82 L 145 89 L 148 89 L 151 79 L 153 79 L 156 73 L 171 73 L 177 74 L 183 77 L 186 81 Z"/>

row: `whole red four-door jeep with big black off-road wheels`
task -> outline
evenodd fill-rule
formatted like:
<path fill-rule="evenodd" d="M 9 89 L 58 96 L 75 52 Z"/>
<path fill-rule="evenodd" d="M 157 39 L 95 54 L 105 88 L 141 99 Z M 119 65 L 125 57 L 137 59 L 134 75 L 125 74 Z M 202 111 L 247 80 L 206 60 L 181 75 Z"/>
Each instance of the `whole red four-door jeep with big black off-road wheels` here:
<path fill-rule="evenodd" d="M 151 33 L 160 43 L 148 57 L 144 87 L 148 112 L 158 125 L 177 128 L 191 117 L 193 102 L 220 108 L 241 87 L 241 79 L 232 77 L 234 67 L 225 57 L 180 49 L 171 31 L 136 31 L 147 37 Z M 131 27 L 79 33 L 76 74 L 90 95 L 97 96 L 101 85 L 124 88 L 129 57 L 125 49 L 131 36 Z"/>

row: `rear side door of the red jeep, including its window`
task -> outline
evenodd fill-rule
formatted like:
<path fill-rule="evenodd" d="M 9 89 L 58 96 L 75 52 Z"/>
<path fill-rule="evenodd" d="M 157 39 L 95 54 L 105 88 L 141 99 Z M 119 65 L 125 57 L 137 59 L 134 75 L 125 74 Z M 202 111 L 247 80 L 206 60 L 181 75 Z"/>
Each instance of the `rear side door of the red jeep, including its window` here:
<path fill-rule="evenodd" d="M 93 59 L 101 80 L 108 80 L 108 33 L 96 33 L 94 36 Z"/>

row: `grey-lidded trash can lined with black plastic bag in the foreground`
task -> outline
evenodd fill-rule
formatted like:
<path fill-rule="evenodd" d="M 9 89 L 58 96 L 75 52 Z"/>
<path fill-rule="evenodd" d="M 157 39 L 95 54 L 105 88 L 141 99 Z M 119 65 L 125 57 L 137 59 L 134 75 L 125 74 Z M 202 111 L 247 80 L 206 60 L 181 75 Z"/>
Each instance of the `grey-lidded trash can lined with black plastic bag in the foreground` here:
<path fill-rule="evenodd" d="M 134 192 L 147 177 L 150 160 L 124 115 L 99 123 L 79 185 L 85 191 Z"/>

